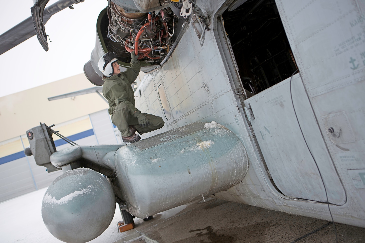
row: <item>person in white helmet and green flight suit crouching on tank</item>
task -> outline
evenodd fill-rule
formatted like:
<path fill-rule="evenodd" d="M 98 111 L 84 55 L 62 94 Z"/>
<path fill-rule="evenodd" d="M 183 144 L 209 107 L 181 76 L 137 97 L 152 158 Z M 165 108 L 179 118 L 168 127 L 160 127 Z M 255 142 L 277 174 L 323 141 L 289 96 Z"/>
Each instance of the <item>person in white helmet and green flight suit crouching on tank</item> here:
<path fill-rule="evenodd" d="M 157 130 L 165 122 L 160 116 L 141 113 L 135 107 L 132 84 L 141 70 L 139 55 L 131 53 L 131 64 L 124 72 L 120 72 L 117 55 L 107 52 L 99 59 L 98 67 L 103 73 L 103 95 L 108 100 L 108 112 L 112 115 L 112 123 L 122 134 L 124 143 L 137 142 L 145 132 Z"/>

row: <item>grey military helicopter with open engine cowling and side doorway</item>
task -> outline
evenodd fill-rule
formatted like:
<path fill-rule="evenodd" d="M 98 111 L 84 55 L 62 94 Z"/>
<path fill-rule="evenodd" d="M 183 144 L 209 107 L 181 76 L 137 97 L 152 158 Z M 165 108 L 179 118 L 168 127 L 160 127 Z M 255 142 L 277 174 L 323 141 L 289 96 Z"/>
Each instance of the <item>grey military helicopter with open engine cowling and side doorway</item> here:
<path fill-rule="evenodd" d="M 45 49 L 46 3 L 32 8 Z M 65 171 L 43 199 L 47 228 L 87 242 L 115 200 L 144 218 L 205 196 L 365 227 L 364 14 L 360 0 L 109 1 L 84 72 L 102 85 L 104 53 L 124 67 L 141 54 L 136 106 L 165 127 L 57 152 L 50 127 L 29 130 L 26 152 Z"/>

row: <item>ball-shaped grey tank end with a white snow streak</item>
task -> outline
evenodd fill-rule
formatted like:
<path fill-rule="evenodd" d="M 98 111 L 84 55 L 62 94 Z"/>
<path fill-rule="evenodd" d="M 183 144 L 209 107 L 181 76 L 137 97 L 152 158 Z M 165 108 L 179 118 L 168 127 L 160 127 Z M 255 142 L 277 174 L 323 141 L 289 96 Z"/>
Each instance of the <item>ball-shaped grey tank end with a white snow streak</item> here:
<path fill-rule="evenodd" d="M 53 181 L 42 201 L 42 217 L 57 239 L 83 243 L 101 235 L 115 212 L 110 183 L 96 171 L 69 170 Z"/>

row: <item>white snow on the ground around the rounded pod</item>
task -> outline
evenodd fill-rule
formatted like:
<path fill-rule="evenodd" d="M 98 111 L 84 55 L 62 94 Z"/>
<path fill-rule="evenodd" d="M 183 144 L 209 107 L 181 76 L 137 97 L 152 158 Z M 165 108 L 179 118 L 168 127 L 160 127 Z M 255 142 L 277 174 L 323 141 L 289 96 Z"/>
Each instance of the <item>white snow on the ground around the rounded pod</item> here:
<path fill-rule="evenodd" d="M 47 188 L 0 203 L 1 243 L 59 243 L 46 228 L 41 215 L 42 198 Z M 113 243 L 122 235 L 117 224 L 122 221 L 118 208 L 109 227 L 90 243 Z"/>

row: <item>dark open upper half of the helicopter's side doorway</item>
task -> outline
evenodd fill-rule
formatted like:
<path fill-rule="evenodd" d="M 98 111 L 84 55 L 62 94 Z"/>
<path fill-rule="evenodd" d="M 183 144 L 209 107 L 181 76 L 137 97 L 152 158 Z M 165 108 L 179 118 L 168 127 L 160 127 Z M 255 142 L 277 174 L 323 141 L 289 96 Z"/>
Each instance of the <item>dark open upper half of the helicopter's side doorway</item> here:
<path fill-rule="evenodd" d="M 297 69 L 274 0 L 248 0 L 222 17 L 246 90 L 257 94 Z"/>

